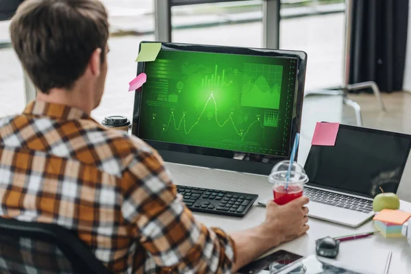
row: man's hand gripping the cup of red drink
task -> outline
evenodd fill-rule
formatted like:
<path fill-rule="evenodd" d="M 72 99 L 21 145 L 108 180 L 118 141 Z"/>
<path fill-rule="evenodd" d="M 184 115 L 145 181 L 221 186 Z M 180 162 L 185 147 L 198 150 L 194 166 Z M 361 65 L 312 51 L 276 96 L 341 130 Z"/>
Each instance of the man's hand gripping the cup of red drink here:
<path fill-rule="evenodd" d="M 310 228 L 308 222 L 307 197 L 301 197 L 278 206 L 274 201 L 266 204 L 266 220 L 262 223 L 263 233 L 273 235 L 272 247 L 294 240 Z"/>

